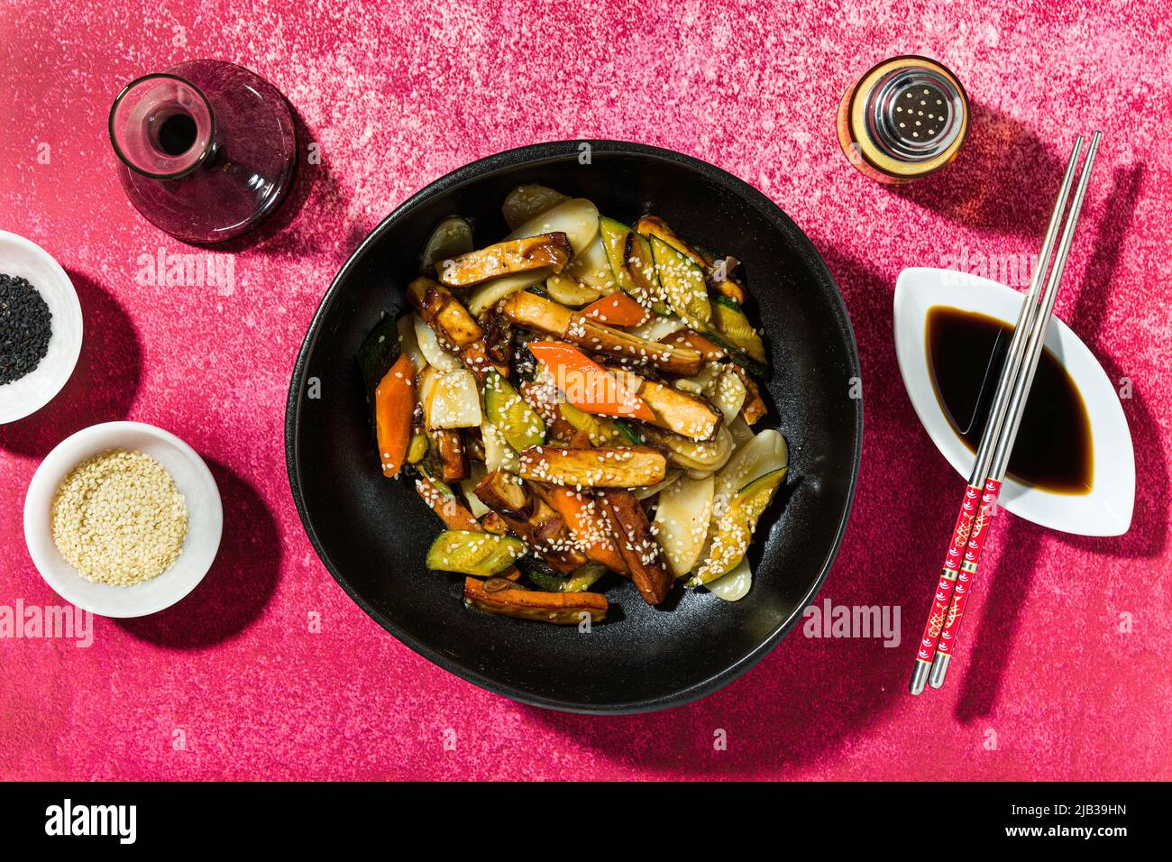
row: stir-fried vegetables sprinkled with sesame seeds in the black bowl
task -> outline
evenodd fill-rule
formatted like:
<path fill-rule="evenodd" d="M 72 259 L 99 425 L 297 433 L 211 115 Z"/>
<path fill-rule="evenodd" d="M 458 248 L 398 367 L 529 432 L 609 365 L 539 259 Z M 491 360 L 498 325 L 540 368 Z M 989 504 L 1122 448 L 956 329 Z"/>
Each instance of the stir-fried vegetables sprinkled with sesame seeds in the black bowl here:
<path fill-rule="evenodd" d="M 444 219 L 359 364 L 383 475 L 407 474 L 443 530 L 427 566 L 465 576 L 479 611 L 579 625 L 607 584 L 650 604 L 728 600 L 785 482 L 770 373 L 740 263 L 540 185 L 502 208 L 511 233 Z"/>

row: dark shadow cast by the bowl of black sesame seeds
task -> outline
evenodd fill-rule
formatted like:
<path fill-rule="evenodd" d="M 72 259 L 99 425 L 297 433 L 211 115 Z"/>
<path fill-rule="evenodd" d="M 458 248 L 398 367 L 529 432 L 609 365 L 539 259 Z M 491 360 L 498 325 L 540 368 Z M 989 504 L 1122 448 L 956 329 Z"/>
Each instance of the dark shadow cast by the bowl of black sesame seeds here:
<path fill-rule="evenodd" d="M 118 301 L 76 270 L 84 338 L 77 367 L 49 403 L 27 419 L 0 426 L 0 449 L 42 459 L 70 434 L 97 422 L 127 418 L 142 376 L 142 347 Z"/>

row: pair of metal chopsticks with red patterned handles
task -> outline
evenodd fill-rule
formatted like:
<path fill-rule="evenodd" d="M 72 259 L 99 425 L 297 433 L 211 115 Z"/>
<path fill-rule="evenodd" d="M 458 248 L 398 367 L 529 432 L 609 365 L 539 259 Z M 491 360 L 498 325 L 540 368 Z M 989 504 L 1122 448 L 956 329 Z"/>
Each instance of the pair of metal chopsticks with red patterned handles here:
<path fill-rule="evenodd" d="M 1050 318 L 1054 317 L 1054 300 L 1058 296 L 1058 283 L 1062 280 L 1062 271 L 1070 253 L 1070 244 L 1083 209 L 1083 198 L 1086 196 L 1086 185 L 1095 167 L 1095 154 L 1098 151 L 1101 137 L 1102 133 L 1096 131 L 1091 138 L 1068 213 L 1067 199 L 1070 197 L 1075 169 L 1083 150 L 1082 135 L 1075 141 L 1074 151 L 1070 154 L 1070 163 L 1062 178 L 1058 199 L 1050 215 L 1037 265 L 1030 278 L 1029 292 L 1017 317 L 1006 364 L 997 380 L 989 419 L 981 435 L 981 444 L 976 449 L 973 473 L 968 487 L 965 488 L 960 514 L 956 517 L 952 541 L 948 543 L 943 569 L 936 583 L 936 593 L 932 600 L 932 611 L 924 627 L 924 637 L 920 638 L 915 668 L 912 671 L 908 685 L 912 694 L 922 692 L 926 683 L 933 688 L 939 688 L 948 673 L 948 663 L 952 660 L 956 634 L 965 617 L 965 603 L 976 579 L 981 550 L 996 511 L 997 496 L 1001 494 L 1001 483 L 1009 467 L 1017 427 L 1021 425 L 1034 373 L 1042 355 L 1045 331 L 1050 326 Z M 1063 222 L 1064 215 L 1067 218 Z M 1057 240 L 1056 253 L 1055 240 Z M 1052 262 L 1051 253 L 1054 253 Z M 974 357 L 974 361 L 981 359 Z"/>

